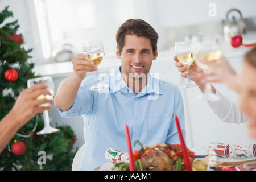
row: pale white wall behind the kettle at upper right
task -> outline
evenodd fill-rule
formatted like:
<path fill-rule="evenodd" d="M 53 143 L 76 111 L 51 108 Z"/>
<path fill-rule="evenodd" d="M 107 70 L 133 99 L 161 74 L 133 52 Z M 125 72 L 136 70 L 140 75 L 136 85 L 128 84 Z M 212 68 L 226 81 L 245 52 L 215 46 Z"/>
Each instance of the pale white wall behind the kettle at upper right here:
<path fill-rule="evenodd" d="M 256 16 L 255 0 L 158 0 L 157 11 L 161 28 L 225 20 L 226 12 L 236 8 L 244 18 Z M 209 4 L 215 3 L 217 16 L 210 17 Z"/>

